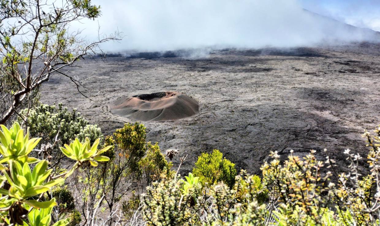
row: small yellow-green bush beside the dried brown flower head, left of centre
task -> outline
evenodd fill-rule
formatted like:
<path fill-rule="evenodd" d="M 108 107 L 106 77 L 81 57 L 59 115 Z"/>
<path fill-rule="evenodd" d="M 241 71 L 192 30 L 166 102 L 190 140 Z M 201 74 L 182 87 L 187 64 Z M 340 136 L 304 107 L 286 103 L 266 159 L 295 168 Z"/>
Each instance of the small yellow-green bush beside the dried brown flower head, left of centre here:
<path fill-rule="evenodd" d="M 166 161 L 158 143 L 155 145 L 152 145 L 150 142 L 147 143 L 146 156 L 143 157 L 138 164 L 147 180 L 147 184 L 162 178 L 170 179 L 174 176 L 174 171 L 171 170 L 173 163 Z"/>

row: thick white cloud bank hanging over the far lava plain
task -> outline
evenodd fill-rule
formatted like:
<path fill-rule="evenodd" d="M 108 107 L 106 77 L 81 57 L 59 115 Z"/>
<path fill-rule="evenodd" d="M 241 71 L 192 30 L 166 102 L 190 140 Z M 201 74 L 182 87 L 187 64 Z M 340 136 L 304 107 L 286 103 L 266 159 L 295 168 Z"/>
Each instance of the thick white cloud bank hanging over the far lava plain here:
<path fill-rule="evenodd" d="M 160 51 L 179 48 L 312 46 L 321 43 L 372 41 L 373 33 L 302 9 L 297 0 L 93 0 L 101 5 L 98 20 L 85 28 L 87 39 L 118 29 L 120 43 L 108 51 Z"/>

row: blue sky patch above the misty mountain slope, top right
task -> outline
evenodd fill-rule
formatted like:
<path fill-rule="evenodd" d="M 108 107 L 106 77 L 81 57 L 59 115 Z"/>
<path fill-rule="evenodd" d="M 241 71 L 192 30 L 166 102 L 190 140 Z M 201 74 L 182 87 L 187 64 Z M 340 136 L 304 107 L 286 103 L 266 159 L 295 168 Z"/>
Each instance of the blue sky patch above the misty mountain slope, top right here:
<path fill-rule="evenodd" d="M 342 22 L 380 31 L 380 0 L 300 0 L 304 8 Z"/>

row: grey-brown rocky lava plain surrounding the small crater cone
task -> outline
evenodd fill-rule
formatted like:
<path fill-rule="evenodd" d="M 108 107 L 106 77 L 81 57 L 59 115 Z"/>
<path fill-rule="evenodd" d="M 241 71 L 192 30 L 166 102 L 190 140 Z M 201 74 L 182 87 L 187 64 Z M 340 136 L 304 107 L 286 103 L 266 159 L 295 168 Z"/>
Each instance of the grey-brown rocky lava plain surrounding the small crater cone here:
<path fill-rule="evenodd" d="M 104 134 L 132 122 L 111 113 L 119 97 L 178 91 L 195 98 L 199 114 L 176 122 L 145 122 L 147 140 L 188 155 L 182 173 L 202 152 L 219 149 L 252 173 L 270 151 L 301 156 L 323 148 L 340 160 L 344 148 L 367 153 L 360 134 L 380 123 L 380 45 L 261 50 L 225 49 L 204 58 L 86 60 L 43 85 L 43 103 L 77 108 Z M 179 157 L 173 159 L 175 166 Z"/>

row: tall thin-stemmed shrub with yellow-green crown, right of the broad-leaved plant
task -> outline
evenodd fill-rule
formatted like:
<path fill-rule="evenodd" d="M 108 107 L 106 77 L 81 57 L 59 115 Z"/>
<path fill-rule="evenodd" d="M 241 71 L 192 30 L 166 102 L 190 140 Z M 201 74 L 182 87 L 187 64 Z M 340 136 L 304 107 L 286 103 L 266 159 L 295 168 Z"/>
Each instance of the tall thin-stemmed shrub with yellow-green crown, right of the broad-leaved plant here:
<path fill-rule="evenodd" d="M 112 161 L 100 164 L 97 168 L 82 168 L 81 178 L 73 181 L 73 185 L 83 194 L 82 202 L 78 204 L 80 209 L 89 209 L 87 214 L 84 214 L 84 220 L 91 221 L 97 209 L 115 214 L 114 208 L 122 206 L 121 202 L 130 192 L 131 186 L 141 185 L 140 176 L 144 175 L 141 168 L 146 170 L 146 177 L 150 180 L 156 175 L 160 176 L 158 173 L 166 172 L 165 165 L 168 163 L 165 159 L 160 159 L 157 154 L 157 150 L 160 152 L 159 147 L 147 145 L 145 139 L 146 132 L 143 124 L 126 123 L 123 128 L 117 129 L 113 136 L 105 138 L 104 147 L 111 146 L 111 148 L 102 155 L 109 157 Z M 142 160 L 148 148 L 148 155 Z M 154 165 L 150 161 L 153 161 Z M 99 207 L 96 208 L 98 205 Z M 125 208 L 127 208 L 126 205 L 128 206 L 128 203 L 124 203 Z M 108 219 L 105 225 L 111 222 L 113 220 Z"/>

